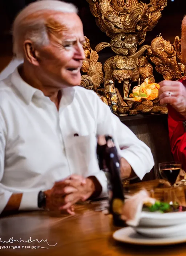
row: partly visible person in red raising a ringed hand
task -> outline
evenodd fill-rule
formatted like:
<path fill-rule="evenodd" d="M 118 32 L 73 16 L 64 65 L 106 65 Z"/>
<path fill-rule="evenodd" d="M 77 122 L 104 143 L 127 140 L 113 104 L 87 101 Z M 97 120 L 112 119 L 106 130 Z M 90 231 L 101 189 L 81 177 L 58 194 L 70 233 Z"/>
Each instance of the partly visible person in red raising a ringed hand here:
<path fill-rule="evenodd" d="M 186 16 L 182 21 L 182 56 L 186 62 Z M 176 161 L 186 171 L 186 80 L 159 83 L 161 104 L 168 104 L 168 124 L 171 150 Z"/>

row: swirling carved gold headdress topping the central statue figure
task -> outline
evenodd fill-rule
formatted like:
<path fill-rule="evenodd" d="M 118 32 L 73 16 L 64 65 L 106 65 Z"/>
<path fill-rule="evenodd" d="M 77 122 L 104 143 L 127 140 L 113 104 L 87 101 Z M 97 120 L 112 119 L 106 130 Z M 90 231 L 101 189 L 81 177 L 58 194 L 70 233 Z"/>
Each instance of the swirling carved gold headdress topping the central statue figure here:
<path fill-rule="evenodd" d="M 120 44 L 125 41 L 125 36 L 132 33 L 134 35 L 131 36 L 137 38 L 139 45 L 144 42 L 146 31 L 155 27 L 161 17 L 161 11 L 167 5 L 167 0 L 150 0 L 149 4 L 139 3 L 138 0 L 87 1 L 103 32 L 112 38 L 116 34 L 122 33 L 124 39 L 121 38 L 122 36 L 118 36 Z"/>

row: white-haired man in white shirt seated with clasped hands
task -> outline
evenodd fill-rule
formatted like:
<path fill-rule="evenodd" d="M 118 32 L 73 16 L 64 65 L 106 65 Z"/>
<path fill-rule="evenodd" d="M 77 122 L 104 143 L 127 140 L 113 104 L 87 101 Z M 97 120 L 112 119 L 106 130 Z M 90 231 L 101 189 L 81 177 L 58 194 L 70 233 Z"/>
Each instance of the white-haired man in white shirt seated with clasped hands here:
<path fill-rule="evenodd" d="M 76 7 L 30 4 L 13 24 L 13 51 L 24 59 L 0 82 L 0 212 L 64 210 L 107 195 L 97 136 L 113 136 L 122 178 L 143 178 L 150 149 L 80 84 L 83 27 Z"/>

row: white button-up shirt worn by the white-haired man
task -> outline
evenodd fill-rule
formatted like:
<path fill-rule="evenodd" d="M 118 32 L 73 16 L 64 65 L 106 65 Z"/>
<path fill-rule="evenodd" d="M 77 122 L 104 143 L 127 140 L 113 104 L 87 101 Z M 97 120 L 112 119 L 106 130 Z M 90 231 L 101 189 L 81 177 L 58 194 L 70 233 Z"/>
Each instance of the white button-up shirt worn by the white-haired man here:
<path fill-rule="evenodd" d="M 106 196 L 96 155 L 96 136 L 105 134 L 113 136 L 119 156 L 140 179 L 151 170 L 150 149 L 96 93 L 78 86 L 62 89 L 57 111 L 16 69 L 0 82 L 0 213 L 12 193 L 23 193 L 20 210 L 38 209 L 38 192 L 73 173 L 96 176 L 100 196 Z"/>

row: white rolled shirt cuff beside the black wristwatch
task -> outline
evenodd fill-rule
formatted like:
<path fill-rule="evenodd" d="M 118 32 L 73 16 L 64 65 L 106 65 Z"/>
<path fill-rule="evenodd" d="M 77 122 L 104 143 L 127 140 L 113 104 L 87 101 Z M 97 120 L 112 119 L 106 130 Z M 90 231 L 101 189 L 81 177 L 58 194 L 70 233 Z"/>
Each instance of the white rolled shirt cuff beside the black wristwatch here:
<path fill-rule="evenodd" d="M 39 191 L 25 192 L 23 193 L 19 211 L 37 211 L 41 208 L 37 205 Z"/>

